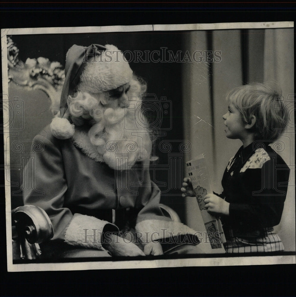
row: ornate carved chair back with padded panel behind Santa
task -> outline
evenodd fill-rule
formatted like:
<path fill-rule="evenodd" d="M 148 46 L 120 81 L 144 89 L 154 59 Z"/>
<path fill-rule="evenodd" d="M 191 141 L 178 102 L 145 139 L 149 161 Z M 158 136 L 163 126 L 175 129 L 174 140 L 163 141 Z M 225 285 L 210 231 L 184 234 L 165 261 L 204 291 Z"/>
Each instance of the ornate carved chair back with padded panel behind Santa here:
<path fill-rule="evenodd" d="M 43 57 L 23 62 L 18 53 L 17 46 L 8 37 L 8 96 L 3 107 L 9 112 L 9 123 L 4 123 L 4 128 L 10 131 L 6 151 L 10 153 L 12 209 L 23 205 L 22 187 L 31 186 L 22 185 L 23 168 L 29 160 L 34 166 L 34 152 L 42 149 L 42 143 L 32 147 L 32 140 L 59 110 L 65 78 L 59 62 Z"/>

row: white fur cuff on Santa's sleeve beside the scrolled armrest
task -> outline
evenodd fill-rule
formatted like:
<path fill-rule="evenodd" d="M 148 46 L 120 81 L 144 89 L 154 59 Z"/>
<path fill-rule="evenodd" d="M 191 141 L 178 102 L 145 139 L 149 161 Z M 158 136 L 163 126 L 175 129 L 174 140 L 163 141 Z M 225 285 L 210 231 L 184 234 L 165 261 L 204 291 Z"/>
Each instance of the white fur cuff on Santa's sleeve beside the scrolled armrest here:
<path fill-rule="evenodd" d="M 107 221 L 82 214 L 74 214 L 66 229 L 65 242 L 75 246 L 104 250 L 102 247 L 102 233 L 105 226 L 108 227 L 107 231 L 119 232 L 115 225 Z"/>

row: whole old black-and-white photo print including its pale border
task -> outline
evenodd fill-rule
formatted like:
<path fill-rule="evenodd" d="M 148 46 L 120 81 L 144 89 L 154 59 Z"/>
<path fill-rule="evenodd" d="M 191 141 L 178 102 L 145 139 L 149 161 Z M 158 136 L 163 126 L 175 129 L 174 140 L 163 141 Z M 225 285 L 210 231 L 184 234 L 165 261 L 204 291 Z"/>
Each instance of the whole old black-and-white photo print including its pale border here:
<path fill-rule="evenodd" d="M 295 263 L 293 22 L 1 50 L 8 271 Z"/>

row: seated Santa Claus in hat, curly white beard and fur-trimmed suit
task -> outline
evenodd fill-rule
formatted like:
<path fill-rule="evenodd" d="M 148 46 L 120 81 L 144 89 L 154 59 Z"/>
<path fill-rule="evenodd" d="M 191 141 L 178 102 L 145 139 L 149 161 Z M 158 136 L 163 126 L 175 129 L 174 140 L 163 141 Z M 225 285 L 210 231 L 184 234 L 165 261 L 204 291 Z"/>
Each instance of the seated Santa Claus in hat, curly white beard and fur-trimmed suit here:
<path fill-rule="evenodd" d="M 138 112 L 146 83 L 114 45 L 73 45 L 65 73 L 60 108 L 34 138 L 44 144 L 32 173 L 43 195 L 23 191 L 24 204 L 41 207 L 52 222 L 44 246 L 59 255 L 83 248 L 109 257 L 198 253 L 197 233 L 163 215 L 150 179 L 151 130 Z M 136 113 L 129 99 L 137 100 Z"/>

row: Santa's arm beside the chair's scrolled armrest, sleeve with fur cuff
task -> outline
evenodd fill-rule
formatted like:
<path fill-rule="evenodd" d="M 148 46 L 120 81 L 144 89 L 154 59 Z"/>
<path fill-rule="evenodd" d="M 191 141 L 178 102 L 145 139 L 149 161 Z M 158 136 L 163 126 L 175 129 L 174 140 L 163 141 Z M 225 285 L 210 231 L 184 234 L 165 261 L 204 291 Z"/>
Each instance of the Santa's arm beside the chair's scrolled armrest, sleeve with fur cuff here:
<path fill-rule="evenodd" d="M 42 143 L 43 147 L 34 153 L 35 170 L 28 171 L 28 165 L 24 169 L 24 205 L 35 205 L 45 210 L 53 225 L 53 240 L 61 239 L 75 246 L 102 249 L 103 232 L 118 232 L 118 228 L 95 217 L 81 214 L 73 216 L 69 208 L 63 206 L 67 191 L 64 163 L 59 149 L 59 141 L 63 140 L 46 137 L 45 130 L 43 134 L 34 138 L 34 143 Z M 26 187 L 30 180 L 34 181 L 34 187 Z M 39 191 L 38 195 L 36 190 Z"/>

